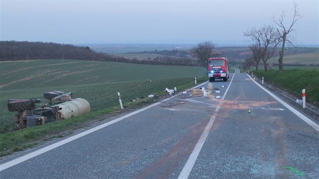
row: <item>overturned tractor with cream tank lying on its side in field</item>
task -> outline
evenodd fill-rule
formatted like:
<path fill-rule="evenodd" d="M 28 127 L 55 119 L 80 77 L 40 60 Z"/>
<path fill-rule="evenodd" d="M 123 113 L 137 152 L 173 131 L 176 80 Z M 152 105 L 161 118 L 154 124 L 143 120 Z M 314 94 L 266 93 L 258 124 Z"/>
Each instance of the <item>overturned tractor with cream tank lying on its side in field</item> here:
<path fill-rule="evenodd" d="M 72 99 L 73 93 L 60 91 L 45 92 L 43 97 L 49 100 L 42 104 L 40 99 L 8 100 L 8 110 L 18 112 L 15 121 L 20 128 L 43 125 L 61 119 L 69 119 L 90 112 L 90 104 L 83 98 Z M 36 104 L 39 104 L 36 108 Z"/>

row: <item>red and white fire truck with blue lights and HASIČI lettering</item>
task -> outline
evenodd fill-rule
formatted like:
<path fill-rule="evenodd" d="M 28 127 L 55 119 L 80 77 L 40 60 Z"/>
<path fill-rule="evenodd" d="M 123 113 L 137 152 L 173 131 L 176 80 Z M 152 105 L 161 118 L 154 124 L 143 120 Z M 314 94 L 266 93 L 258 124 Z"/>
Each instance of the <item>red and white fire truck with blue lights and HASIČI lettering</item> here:
<path fill-rule="evenodd" d="M 215 81 L 215 79 L 227 81 L 229 78 L 227 58 L 208 59 L 208 77 L 209 82 Z"/>

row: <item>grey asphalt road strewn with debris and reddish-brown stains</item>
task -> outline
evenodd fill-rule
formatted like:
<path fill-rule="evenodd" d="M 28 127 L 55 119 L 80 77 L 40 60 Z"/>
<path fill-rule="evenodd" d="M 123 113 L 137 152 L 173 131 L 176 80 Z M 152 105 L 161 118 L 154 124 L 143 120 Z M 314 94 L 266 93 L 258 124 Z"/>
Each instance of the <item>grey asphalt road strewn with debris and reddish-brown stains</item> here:
<path fill-rule="evenodd" d="M 247 74 L 202 86 L 6 158 L 0 178 L 319 178 L 314 119 Z"/>

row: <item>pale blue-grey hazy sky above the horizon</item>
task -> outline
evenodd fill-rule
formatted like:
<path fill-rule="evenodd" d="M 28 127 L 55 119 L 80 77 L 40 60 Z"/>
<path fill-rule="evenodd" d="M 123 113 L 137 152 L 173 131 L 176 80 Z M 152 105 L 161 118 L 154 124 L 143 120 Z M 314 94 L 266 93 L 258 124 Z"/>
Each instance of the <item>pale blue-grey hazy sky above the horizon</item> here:
<path fill-rule="evenodd" d="M 297 45 L 318 45 L 318 0 L 296 0 Z M 0 40 L 76 43 L 249 44 L 244 32 L 273 25 L 292 0 L 0 0 Z"/>

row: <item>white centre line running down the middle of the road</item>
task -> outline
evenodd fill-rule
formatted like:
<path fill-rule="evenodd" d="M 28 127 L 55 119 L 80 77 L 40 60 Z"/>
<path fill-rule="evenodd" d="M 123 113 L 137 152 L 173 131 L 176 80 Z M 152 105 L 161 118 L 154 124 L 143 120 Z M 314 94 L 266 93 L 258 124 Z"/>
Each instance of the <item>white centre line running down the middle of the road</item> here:
<path fill-rule="evenodd" d="M 230 86 L 230 84 L 231 84 L 231 82 L 232 82 L 234 76 L 235 76 L 235 73 L 233 74 L 233 76 L 232 76 L 232 78 L 231 78 L 231 81 L 230 81 L 230 83 L 229 83 L 229 85 L 228 85 L 228 87 L 227 87 L 227 89 L 226 89 L 226 92 L 225 92 L 225 94 L 224 94 L 222 100 L 225 99 L 225 96 L 226 96 L 226 94 L 227 94 L 227 92 L 228 92 L 229 86 Z M 200 154 L 200 152 L 201 152 L 201 150 L 202 150 L 202 147 L 204 146 L 204 143 L 205 143 L 206 138 L 207 138 L 207 136 L 208 136 L 208 134 L 209 134 L 209 131 L 211 130 L 211 128 L 212 128 L 212 126 L 213 126 L 213 124 L 214 124 L 214 121 L 215 121 L 215 118 L 216 118 L 217 113 L 218 113 L 218 111 L 219 111 L 219 108 L 220 108 L 220 107 L 217 106 L 215 112 L 213 113 L 212 117 L 210 118 L 208 124 L 206 125 L 206 127 L 205 127 L 205 129 L 204 129 L 204 131 L 203 131 L 203 133 L 202 133 L 202 136 L 201 136 L 200 140 L 198 140 L 198 142 L 197 142 L 195 148 L 194 148 L 193 151 L 191 152 L 191 154 L 190 154 L 190 156 L 189 156 L 189 158 L 188 158 L 186 164 L 184 165 L 184 167 L 183 167 L 181 173 L 179 174 L 179 176 L 178 176 L 179 179 L 188 178 L 189 173 L 190 173 L 190 171 L 192 170 L 192 168 L 193 168 L 193 166 L 194 166 L 194 164 L 195 164 L 195 162 L 196 162 L 196 160 L 197 160 L 197 157 L 198 157 L 198 155 Z"/>

